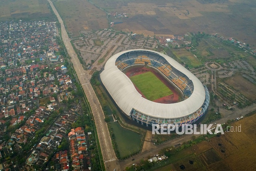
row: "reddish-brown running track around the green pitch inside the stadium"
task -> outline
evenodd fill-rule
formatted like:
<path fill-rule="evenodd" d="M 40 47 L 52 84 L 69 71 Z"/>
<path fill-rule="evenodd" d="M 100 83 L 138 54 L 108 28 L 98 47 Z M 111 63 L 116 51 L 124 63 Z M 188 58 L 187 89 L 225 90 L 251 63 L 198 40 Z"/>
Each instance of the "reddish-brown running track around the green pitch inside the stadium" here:
<path fill-rule="evenodd" d="M 131 77 L 131 76 L 139 75 L 139 74 L 146 73 L 149 71 L 152 72 L 153 74 L 155 74 L 155 76 L 157 78 L 159 78 L 159 80 L 161 80 L 173 93 L 169 96 L 165 96 L 165 97 L 156 99 L 156 100 L 154 100 L 154 102 L 168 104 L 168 103 L 176 103 L 177 101 L 179 101 L 179 99 L 181 97 L 180 92 L 173 85 L 171 85 L 170 82 L 168 82 L 165 78 L 163 78 L 163 76 L 161 74 L 159 74 L 156 70 L 152 69 L 151 67 L 133 66 L 133 67 L 127 68 L 124 71 L 124 73 L 126 74 L 127 77 Z M 135 85 L 134 85 L 134 87 L 142 95 L 142 97 L 146 98 Z"/>

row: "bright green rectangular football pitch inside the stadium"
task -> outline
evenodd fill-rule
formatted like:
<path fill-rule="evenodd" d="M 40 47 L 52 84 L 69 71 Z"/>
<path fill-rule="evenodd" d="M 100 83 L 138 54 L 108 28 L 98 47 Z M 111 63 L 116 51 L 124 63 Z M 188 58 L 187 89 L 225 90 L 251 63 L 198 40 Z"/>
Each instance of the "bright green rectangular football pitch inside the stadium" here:
<path fill-rule="evenodd" d="M 130 80 L 150 101 L 173 94 L 152 72 L 134 75 Z"/>

